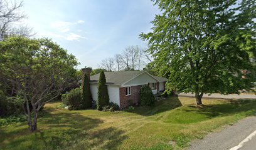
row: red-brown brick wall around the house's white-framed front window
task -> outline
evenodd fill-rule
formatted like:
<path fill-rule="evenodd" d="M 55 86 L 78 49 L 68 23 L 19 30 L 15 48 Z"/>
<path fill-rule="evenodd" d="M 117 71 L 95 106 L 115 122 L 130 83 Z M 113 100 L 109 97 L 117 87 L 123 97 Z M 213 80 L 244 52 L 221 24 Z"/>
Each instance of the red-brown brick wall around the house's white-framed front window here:
<path fill-rule="evenodd" d="M 120 108 L 129 106 L 129 100 L 132 99 L 133 103 L 141 103 L 141 86 L 132 86 L 131 95 L 125 96 L 125 87 L 119 88 L 120 94 Z"/>

